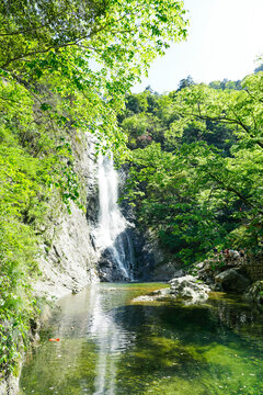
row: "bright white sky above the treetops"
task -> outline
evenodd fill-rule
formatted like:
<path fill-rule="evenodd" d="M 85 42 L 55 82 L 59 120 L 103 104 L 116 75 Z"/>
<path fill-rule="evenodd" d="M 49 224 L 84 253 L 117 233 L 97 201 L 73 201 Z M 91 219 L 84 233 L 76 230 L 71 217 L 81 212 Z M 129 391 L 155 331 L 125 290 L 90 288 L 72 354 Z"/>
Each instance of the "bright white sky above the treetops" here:
<path fill-rule="evenodd" d="M 187 76 L 205 83 L 238 80 L 259 66 L 263 0 L 184 0 L 184 8 L 190 19 L 187 41 L 172 44 L 157 58 L 134 93 L 147 86 L 159 93 L 173 91 Z"/>

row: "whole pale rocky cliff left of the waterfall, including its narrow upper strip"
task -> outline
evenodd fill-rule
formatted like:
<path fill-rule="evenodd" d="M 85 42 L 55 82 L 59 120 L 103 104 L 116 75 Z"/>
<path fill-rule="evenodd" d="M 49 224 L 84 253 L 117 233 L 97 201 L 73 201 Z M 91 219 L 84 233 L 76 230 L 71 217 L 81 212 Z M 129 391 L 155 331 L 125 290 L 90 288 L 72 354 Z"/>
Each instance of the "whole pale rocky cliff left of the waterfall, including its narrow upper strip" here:
<path fill-rule="evenodd" d="M 82 137 L 72 144 L 76 157 L 76 172 L 82 184 L 89 216 L 95 222 L 98 212 L 98 182 L 92 136 Z M 84 210 L 71 204 L 71 214 L 57 204 L 43 230 L 42 255 L 39 257 L 41 279 L 34 284 L 38 295 L 62 296 L 76 292 L 85 284 L 99 281 L 98 255 L 92 240 L 92 221 L 87 219 Z M 92 213 L 92 214 L 91 214 Z"/>

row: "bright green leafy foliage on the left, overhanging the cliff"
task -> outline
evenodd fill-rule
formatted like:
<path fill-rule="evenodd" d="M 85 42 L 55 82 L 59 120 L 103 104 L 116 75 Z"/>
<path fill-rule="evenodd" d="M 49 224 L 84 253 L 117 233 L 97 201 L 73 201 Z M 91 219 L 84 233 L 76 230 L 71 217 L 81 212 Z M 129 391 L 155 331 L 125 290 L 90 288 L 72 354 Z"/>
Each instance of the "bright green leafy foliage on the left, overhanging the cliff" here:
<path fill-rule="evenodd" d="M 182 1 L 0 1 L 0 371 L 37 313 L 30 293 L 50 205 L 81 206 L 84 133 L 125 155 L 116 116 L 150 61 L 186 35 Z"/>

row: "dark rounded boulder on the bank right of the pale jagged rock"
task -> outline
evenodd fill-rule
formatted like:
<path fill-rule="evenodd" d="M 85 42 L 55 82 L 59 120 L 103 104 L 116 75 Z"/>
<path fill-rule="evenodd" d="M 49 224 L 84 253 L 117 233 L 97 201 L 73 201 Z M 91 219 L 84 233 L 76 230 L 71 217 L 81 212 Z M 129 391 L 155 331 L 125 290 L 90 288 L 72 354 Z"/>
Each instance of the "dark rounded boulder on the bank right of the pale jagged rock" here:
<path fill-rule="evenodd" d="M 250 284 L 250 280 L 242 275 L 238 269 L 228 269 L 215 276 L 224 291 L 242 293 Z"/>

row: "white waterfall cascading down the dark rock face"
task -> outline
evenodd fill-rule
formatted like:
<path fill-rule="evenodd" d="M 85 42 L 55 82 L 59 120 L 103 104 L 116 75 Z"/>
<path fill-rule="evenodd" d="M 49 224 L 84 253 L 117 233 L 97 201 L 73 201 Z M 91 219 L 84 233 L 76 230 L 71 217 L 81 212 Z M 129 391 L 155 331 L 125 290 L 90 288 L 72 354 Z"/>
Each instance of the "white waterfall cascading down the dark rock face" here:
<path fill-rule="evenodd" d="M 118 207 L 118 173 L 111 156 L 99 156 L 100 213 L 95 242 L 119 272 L 119 279 L 133 280 L 133 246 L 127 232 L 127 221 Z M 105 258 L 106 257 L 106 258 Z"/>

